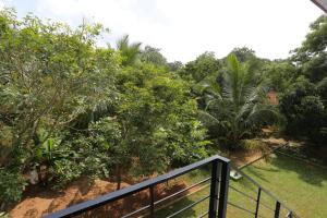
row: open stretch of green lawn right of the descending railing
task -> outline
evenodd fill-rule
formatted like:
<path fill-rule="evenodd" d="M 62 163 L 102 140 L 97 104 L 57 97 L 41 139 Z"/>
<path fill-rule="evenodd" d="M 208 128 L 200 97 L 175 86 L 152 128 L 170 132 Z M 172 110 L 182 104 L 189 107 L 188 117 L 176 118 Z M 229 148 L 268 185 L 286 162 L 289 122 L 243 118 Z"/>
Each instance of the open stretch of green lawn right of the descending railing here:
<path fill-rule="evenodd" d="M 257 161 L 244 172 L 269 189 L 301 217 L 327 217 L 327 170 L 283 155 Z"/>

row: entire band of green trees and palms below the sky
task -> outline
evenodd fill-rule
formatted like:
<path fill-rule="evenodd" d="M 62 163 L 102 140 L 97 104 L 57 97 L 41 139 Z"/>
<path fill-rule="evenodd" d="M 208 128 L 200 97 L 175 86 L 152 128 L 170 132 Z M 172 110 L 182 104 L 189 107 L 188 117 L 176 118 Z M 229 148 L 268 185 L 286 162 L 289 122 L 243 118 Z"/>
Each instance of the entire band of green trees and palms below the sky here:
<path fill-rule="evenodd" d="M 100 48 L 100 24 L 71 28 L 0 12 L 0 206 L 26 185 L 121 182 L 239 148 L 263 126 L 326 143 L 327 19 L 290 59 L 246 47 L 168 62 L 128 35 Z M 279 102 L 268 95 L 276 93 Z M 5 203 L 5 204 L 4 204 Z"/>

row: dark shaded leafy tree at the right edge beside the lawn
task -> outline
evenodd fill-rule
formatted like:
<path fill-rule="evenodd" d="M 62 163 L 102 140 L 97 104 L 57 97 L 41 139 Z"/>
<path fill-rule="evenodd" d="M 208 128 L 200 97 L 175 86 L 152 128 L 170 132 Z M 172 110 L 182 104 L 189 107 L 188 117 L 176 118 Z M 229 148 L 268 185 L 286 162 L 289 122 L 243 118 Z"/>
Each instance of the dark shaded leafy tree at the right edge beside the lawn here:
<path fill-rule="evenodd" d="M 296 76 L 284 80 L 292 84 L 284 88 L 280 108 L 288 120 L 287 132 L 307 137 L 323 146 L 327 142 L 327 17 L 320 16 L 311 25 L 311 33 L 302 46 L 293 51 L 290 62 Z"/>

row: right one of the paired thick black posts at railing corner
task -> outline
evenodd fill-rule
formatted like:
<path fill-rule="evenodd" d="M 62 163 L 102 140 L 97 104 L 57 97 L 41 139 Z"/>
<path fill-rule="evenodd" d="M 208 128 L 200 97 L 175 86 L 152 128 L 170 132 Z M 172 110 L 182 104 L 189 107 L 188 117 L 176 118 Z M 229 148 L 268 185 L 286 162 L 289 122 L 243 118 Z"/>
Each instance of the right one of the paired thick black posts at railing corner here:
<path fill-rule="evenodd" d="M 221 161 L 218 218 L 226 218 L 229 189 L 229 170 L 230 161 Z"/>

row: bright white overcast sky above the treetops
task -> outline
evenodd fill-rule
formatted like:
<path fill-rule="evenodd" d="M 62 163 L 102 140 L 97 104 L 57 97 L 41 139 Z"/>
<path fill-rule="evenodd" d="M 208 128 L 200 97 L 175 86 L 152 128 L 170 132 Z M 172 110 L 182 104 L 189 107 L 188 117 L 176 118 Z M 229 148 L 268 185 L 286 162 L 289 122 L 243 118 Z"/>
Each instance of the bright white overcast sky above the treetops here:
<path fill-rule="evenodd" d="M 323 12 L 310 0 L 0 0 L 19 16 L 33 12 L 72 26 L 83 17 L 111 31 L 114 45 L 131 40 L 161 48 L 169 61 L 194 60 L 204 51 L 225 57 L 250 47 L 263 58 L 286 58 L 301 45 Z"/>

